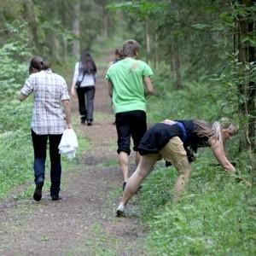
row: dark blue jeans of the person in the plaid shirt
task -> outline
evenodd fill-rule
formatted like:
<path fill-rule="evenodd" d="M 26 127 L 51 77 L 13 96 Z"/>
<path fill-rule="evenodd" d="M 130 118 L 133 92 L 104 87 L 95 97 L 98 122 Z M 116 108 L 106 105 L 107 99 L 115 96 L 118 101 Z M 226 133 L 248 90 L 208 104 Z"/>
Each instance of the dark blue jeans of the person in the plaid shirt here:
<path fill-rule="evenodd" d="M 50 195 L 59 195 L 61 187 L 61 154 L 59 144 L 62 134 L 38 135 L 32 131 L 32 143 L 34 148 L 34 174 L 35 183 L 44 182 L 46 147 L 49 138 L 50 159 Z"/>

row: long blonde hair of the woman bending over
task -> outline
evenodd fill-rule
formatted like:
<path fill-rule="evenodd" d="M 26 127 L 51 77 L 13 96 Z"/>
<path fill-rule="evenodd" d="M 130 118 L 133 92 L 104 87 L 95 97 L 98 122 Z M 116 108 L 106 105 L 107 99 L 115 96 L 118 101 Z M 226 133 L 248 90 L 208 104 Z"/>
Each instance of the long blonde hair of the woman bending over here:
<path fill-rule="evenodd" d="M 222 129 L 228 129 L 232 134 L 236 134 L 237 127 L 230 119 L 222 118 L 214 123 L 195 119 L 195 132 L 199 137 L 216 137 L 220 143 L 223 143 Z"/>

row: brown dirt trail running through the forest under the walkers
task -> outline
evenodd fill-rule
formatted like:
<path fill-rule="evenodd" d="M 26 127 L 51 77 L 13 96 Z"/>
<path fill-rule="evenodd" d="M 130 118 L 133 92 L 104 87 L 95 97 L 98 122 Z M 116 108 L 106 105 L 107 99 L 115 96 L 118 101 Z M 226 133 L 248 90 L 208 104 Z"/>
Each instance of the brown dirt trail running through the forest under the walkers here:
<path fill-rule="evenodd" d="M 111 57 L 105 54 L 96 61 L 107 67 Z M 84 150 L 78 165 L 62 173 L 62 201 L 51 201 L 44 190 L 39 203 L 32 195 L 0 202 L 0 255 L 146 254 L 140 246 L 144 230 L 138 218 L 114 217 L 122 178 L 105 72 L 102 68 L 98 73 L 93 125 L 74 125 L 89 138 L 90 149 Z M 73 120 L 79 124 L 78 103 L 75 98 L 72 102 Z"/>

